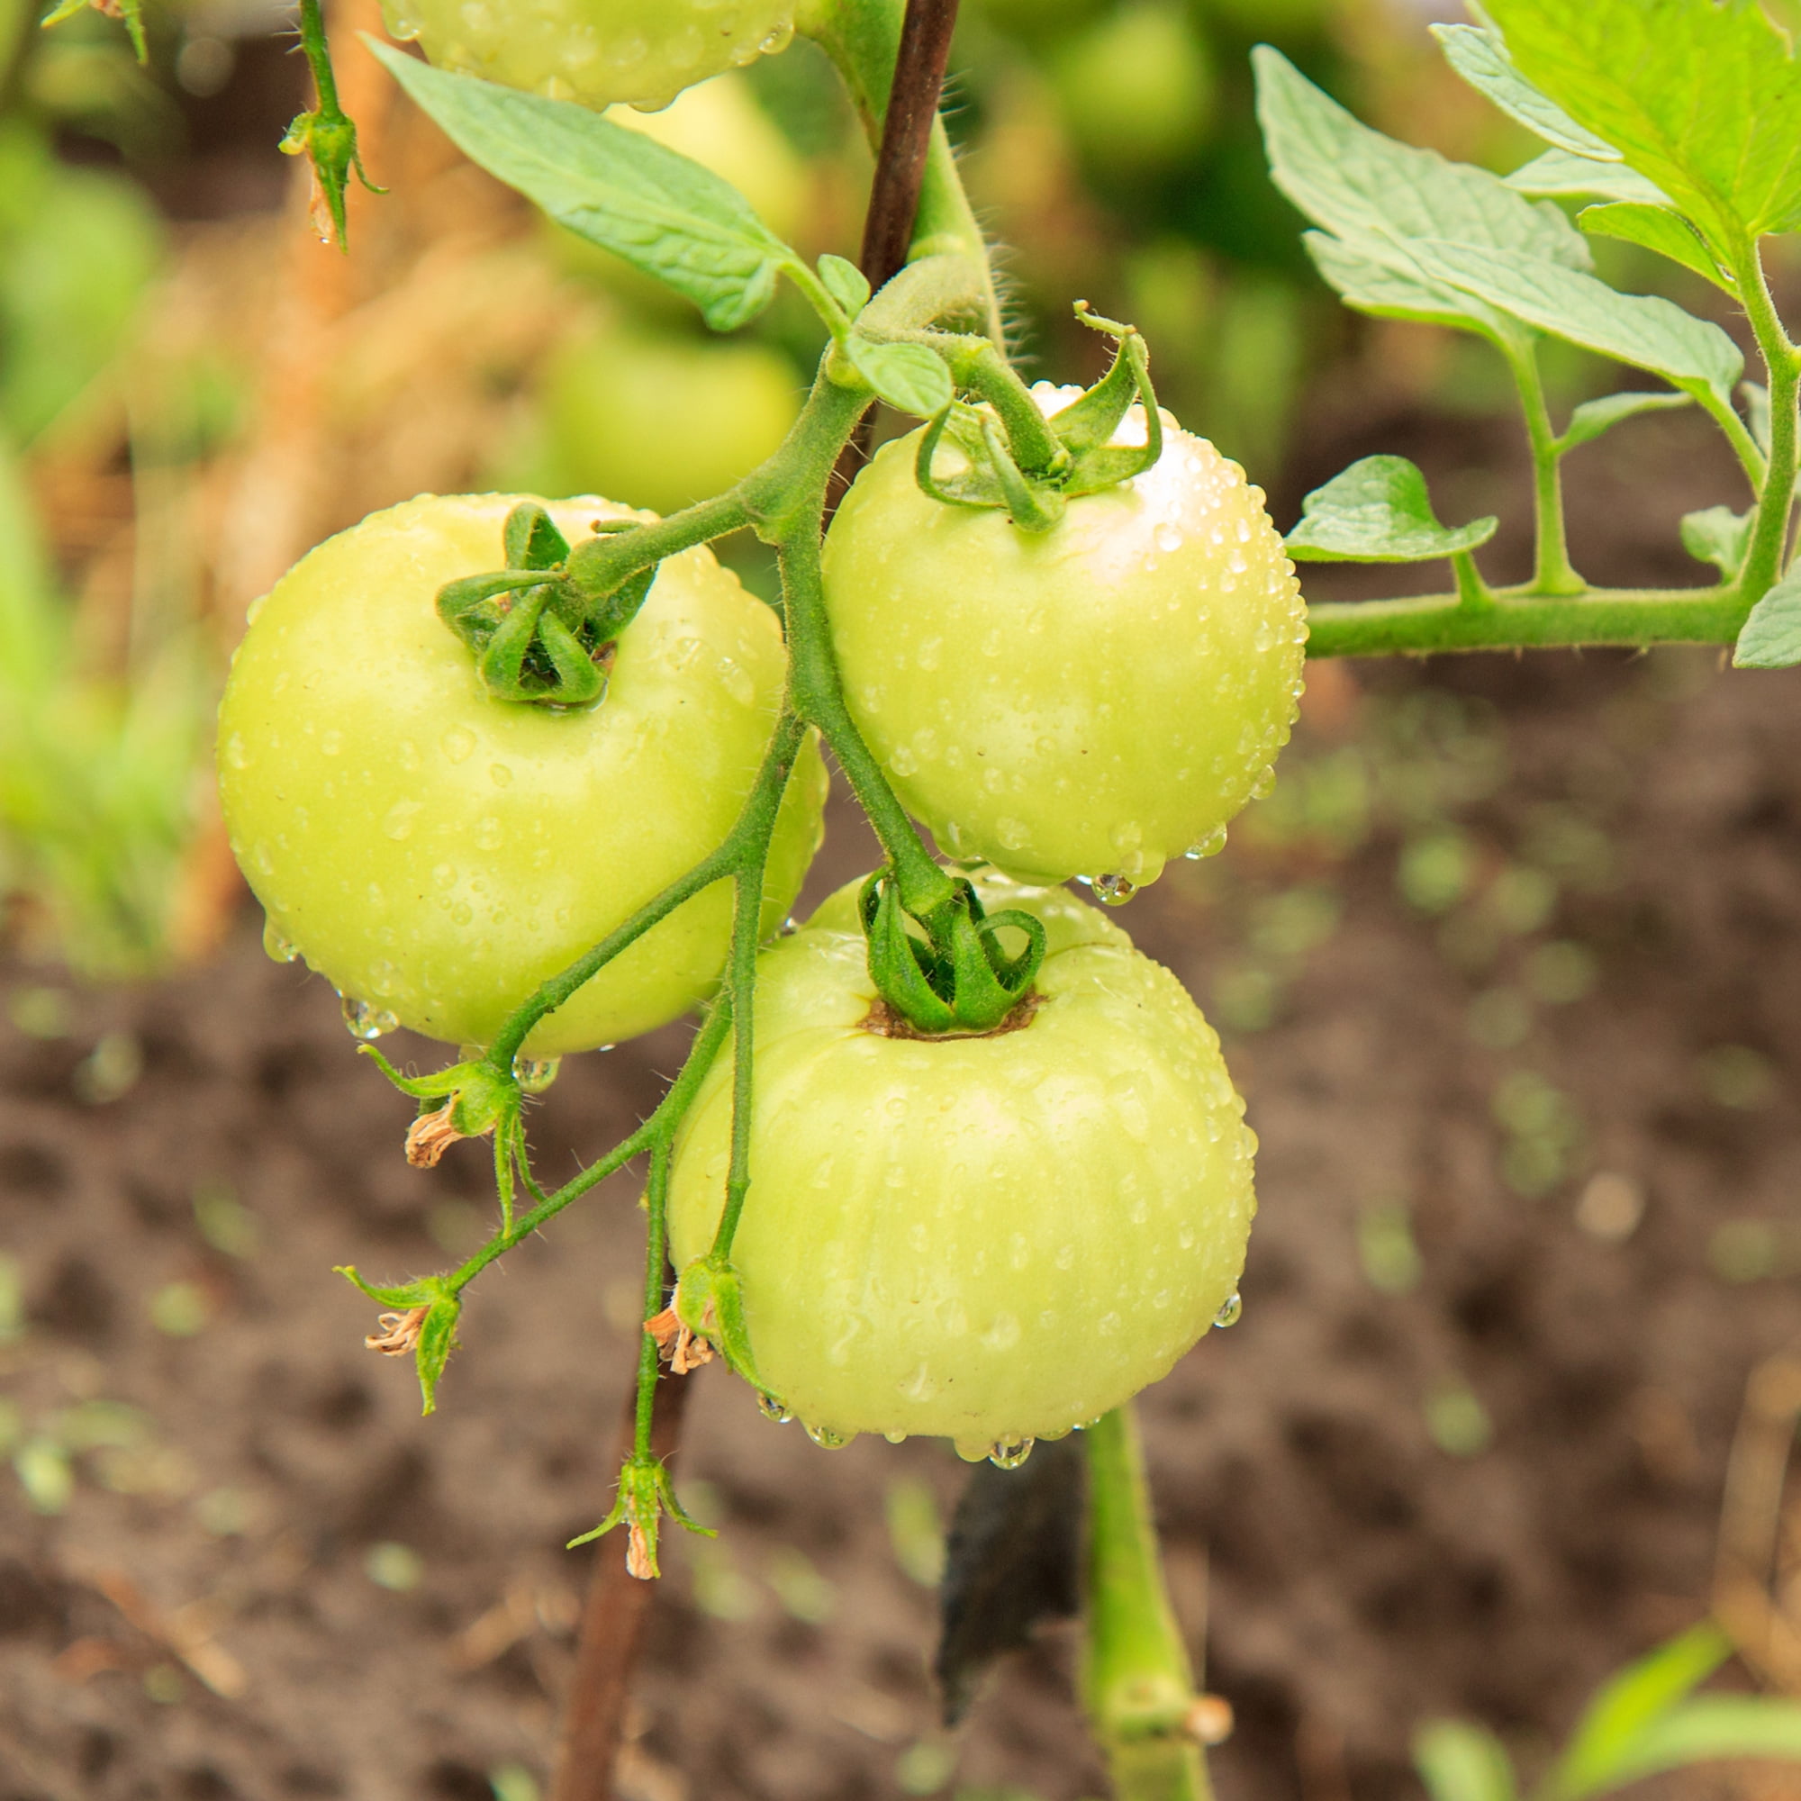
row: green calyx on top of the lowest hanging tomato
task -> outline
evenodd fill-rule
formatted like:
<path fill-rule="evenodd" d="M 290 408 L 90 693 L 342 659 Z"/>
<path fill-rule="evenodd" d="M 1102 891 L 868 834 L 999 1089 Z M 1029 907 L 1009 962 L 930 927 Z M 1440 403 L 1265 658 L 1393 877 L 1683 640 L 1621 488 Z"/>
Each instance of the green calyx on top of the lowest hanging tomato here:
<path fill-rule="evenodd" d="M 1030 1019 L 1032 980 L 1045 962 L 1045 926 L 1023 908 L 987 913 L 974 886 L 958 877 L 951 899 L 924 919 L 900 904 L 888 868 L 877 870 L 857 895 L 868 940 L 870 980 L 888 1010 L 888 1037 L 980 1037 L 1018 1030 Z M 910 920 L 922 931 L 910 929 Z M 1025 935 L 1009 956 L 1001 931 Z M 900 1030 L 904 1021 L 908 1030 Z M 875 1027 L 868 1027 L 877 1030 Z"/>

